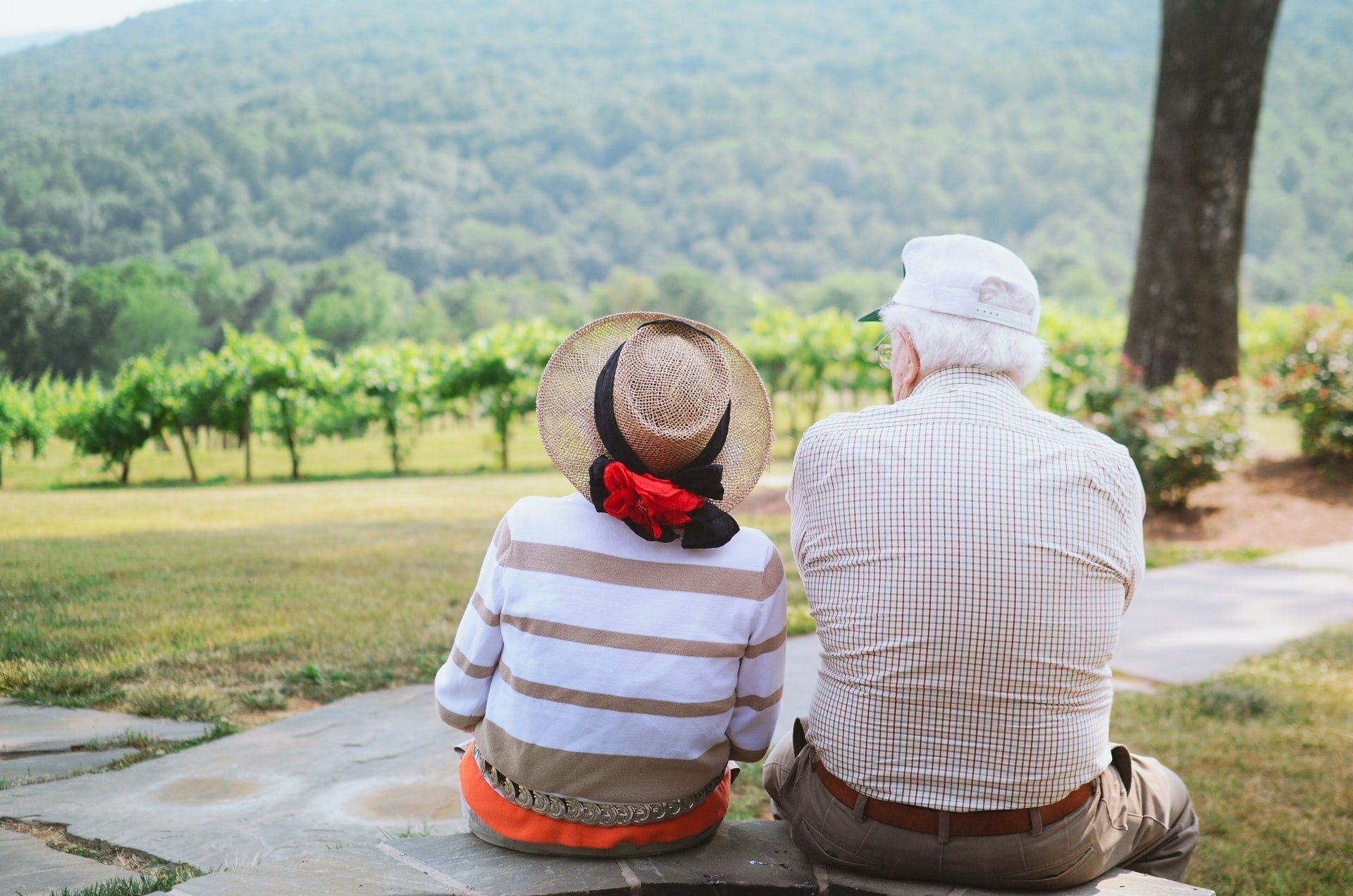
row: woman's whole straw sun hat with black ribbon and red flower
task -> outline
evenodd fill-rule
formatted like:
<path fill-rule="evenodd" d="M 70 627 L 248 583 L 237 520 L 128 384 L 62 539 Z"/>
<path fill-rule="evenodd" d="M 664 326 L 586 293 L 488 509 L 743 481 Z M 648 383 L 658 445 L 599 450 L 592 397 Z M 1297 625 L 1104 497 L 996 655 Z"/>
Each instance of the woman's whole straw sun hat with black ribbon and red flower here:
<path fill-rule="evenodd" d="M 648 540 L 718 547 L 770 463 L 770 398 L 718 330 L 633 311 L 574 332 L 540 378 L 549 459 L 598 512 Z"/>

